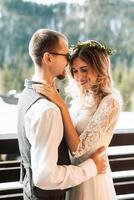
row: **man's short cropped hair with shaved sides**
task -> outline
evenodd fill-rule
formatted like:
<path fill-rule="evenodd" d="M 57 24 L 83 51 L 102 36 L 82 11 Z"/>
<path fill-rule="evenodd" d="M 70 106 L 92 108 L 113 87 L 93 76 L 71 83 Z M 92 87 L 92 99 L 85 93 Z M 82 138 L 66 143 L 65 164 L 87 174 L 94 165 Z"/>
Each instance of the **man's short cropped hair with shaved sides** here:
<path fill-rule="evenodd" d="M 60 32 L 50 29 L 37 30 L 29 42 L 29 55 L 33 62 L 40 66 L 45 52 L 56 52 L 60 38 L 68 41 Z"/>

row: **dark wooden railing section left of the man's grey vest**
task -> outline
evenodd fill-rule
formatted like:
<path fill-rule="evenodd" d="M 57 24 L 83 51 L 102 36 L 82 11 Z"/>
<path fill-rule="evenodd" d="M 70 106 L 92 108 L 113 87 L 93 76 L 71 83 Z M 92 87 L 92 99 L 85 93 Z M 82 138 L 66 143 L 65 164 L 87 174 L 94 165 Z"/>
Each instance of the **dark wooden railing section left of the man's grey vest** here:
<path fill-rule="evenodd" d="M 20 154 L 15 134 L 0 135 L 0 199 L 22 200 Z M 6 156 L 3 160 L 2 157 Z"/>

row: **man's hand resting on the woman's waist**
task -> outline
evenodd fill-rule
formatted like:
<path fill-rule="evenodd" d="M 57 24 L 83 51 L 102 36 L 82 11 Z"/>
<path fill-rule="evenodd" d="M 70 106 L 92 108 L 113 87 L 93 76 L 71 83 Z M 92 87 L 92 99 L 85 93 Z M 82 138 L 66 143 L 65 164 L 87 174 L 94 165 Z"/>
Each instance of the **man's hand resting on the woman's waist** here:
<path fill-rule="evenodd" d="M 100 147 L 94 154 L 92 154 L 91 158 L 96 164 L 97 174 L 104 174 L 106 172 L 106 153 L 105 147 Z"/>

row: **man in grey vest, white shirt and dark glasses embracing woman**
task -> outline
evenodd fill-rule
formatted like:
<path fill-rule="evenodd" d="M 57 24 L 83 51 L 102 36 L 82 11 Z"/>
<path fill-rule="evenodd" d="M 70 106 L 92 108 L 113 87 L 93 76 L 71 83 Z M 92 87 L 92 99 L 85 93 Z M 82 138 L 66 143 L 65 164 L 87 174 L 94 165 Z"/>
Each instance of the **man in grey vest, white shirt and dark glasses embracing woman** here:
<path fill-rule="evenodd" d="M 49 29 L 36 31 L 29 43 L 35 72 L 18 104 L 24 200 L 64 200 L 70 187 L 106 169 L 100 155 L 104 148 L 78 166 L 70 165 L 60 110 L 32 88 L 33 83 L 53 84 L 55 77 L 64 77 L 68 50 L 67 38 Z"/>

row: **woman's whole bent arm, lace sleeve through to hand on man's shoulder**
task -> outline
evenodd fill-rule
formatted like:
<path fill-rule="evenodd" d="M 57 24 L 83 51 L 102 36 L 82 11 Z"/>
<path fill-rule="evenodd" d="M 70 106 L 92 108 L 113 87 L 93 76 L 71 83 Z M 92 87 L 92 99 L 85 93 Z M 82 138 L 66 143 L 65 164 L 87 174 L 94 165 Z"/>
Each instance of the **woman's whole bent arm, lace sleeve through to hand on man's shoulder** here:
<path fill-rule="evenodd" d="M 93 149 L 95 151 L 100 146 L 109 145 L 120 112 L 120 104 L 116 98 L 107 96 L 102 100 L 94 116 L 79 137 L 73 126 L 68 108 L 57 90 L 47 84 L 42 87 L 37 85 L 35 90 L 47 96 L 60 108 L 66 141 L 75 157 L 80 157 L 87 151 L 93 151 Z"/>

